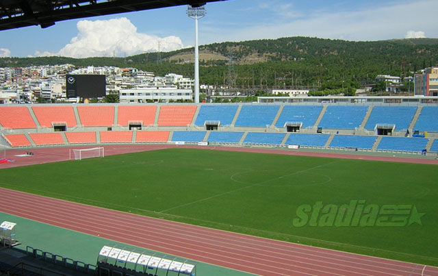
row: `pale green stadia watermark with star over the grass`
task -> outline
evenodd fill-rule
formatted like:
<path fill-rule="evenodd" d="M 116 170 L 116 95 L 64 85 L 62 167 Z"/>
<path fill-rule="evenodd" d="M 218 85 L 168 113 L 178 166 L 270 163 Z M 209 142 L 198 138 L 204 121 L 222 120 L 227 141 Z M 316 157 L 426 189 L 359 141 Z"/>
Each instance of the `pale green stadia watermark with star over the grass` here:
<path fill-rule="evenodd" d="M 365 204 L 365 200 L 351 200 L 348 204 L 302 204 L 296 209 L 294 227 L 402 227 L 422 225 L 424 213 L 412 204 Z"/>

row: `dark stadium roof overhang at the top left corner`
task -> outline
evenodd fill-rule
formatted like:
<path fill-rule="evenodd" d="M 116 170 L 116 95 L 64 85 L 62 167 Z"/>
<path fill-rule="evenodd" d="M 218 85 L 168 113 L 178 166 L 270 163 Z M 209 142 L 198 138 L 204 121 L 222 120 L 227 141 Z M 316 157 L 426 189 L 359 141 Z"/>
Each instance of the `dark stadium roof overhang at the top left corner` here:
<path fill-rule="evenodd" d="M 198 7 L 216 1 L 226 0 L 1 0 L 0 31 L 34 25 L 46 28 L 57 21 L 177 5 Z"/>

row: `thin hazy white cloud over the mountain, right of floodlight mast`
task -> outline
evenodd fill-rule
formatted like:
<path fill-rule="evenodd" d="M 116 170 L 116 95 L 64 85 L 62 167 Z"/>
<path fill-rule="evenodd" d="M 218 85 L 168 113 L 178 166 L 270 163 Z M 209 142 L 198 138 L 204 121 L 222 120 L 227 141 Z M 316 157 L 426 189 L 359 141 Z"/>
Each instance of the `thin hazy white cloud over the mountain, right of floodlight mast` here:
<path fill-rule="evenodd" d="M 268 18 L 250 27 L 235 28 L 226 32 L 207 34 L 213 41 L 242 41 L 288 36 L 311 36 L 344 40 L 387 40 L 404 38 L 407 29 L 422 29 L 429 37 L 438 37 L 438 29 L 433 23 L 438 10 L 438 1 L 392 1 L 387 5 L 370 8 L 352 7 L 350 10 L 311 10 L 300 16 L 294 13 L 292 5 L 284 5 L 276 20 Z M 422 14 L 422 16 L 412 16 Z M 401 19 L 403 18 L 403 19 Z M 224 37 L 226 34 L 227 37 Z M 215 37 L 216 35 L 216 37 Z"/>

